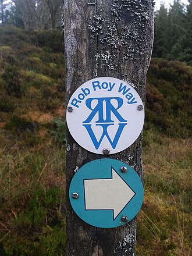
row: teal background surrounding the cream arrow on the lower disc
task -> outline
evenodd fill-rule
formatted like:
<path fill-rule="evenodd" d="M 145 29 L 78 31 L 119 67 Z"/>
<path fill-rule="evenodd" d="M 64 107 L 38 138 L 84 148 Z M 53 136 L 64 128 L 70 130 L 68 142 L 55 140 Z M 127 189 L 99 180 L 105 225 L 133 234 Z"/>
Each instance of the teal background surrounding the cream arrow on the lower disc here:
<path fill-rule="evenodd" d="M 127 172 L 120 172 L 122 166 L 127 167 Z M 113 210 L 86 210 L 84 200 L 84 179 L 110 179 L 111 167 L 116 170 L 118 175 L 136 193 L 120 214 L 113 220 Z M 79 198 L 72 198 L 73 193 L 78 193 Z M 113 197 L 113 194 L 111 195 Z M 74 175 L 69 188 L 70 204 L 74 212 L 84 222 L 96 227 L 110 228 L 125 225 L 121 221 L 122 216 L 127 216 L 129 221 L 133 219 L 143 203 L 144 190 L 140 177 L 134 169 L 126 163 L 110 158 L 97 159 L 83 165 Z"/>

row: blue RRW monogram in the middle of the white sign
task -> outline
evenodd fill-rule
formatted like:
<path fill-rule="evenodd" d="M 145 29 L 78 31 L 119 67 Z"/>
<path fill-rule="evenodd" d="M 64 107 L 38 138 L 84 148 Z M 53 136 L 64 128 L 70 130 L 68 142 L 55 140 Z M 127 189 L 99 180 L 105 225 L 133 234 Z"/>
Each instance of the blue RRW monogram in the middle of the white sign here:
<path fill-rule="evenodd" d="M 96 105 L 95 105 L 96 103 Z M 95 105 L 92 108 L 91 105 Z M 114 106 L 115 105 L 115 106 Z M 118 144 L 120 135 L 124 127 L 127 125 L 127 120 L 123 119 L 118 109 L 123 105 L 123 99 L 119 97 L 113 98 L 88 98 L 86 100 L 86 106 L 88 109 L 91 110 L 90 115 L 86 120 L 83 121 L 83 126 L 86 127 L 87 132 L 93 141 L 94 147 L 98 150 L 99 145 L 101 144 L 103 138 L 106 136 L 108 138 L 109 143 L 111 144 L 112 148 L 115 149 L 116 145 Z M 113 115 L 112 115 L 113 114 Z M 94 116 L 98 116 L 98 120 L 95 121 L 96 126 L 102 127 L 102 135 L 99 140 L 95 137 L 93 129 L 91 128 L 91 120 L 93 120 Z M 108 134 L 108 127 L 114 125 L 114 120 L 112 117 L 118 119 L 118 129 L 116 131 L 115 137 L 112 138 Z"/>

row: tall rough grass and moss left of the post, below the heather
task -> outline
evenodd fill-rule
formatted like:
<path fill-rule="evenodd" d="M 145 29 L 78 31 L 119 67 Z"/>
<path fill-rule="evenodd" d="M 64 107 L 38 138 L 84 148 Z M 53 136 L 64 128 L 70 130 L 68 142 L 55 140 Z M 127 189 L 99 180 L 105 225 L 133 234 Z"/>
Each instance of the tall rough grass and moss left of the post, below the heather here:
<path fill-rule="evenodd" d="M 31 148 L 1 148 L 1 255 L 62 255 L 64 157 L 51 138 Z"/>

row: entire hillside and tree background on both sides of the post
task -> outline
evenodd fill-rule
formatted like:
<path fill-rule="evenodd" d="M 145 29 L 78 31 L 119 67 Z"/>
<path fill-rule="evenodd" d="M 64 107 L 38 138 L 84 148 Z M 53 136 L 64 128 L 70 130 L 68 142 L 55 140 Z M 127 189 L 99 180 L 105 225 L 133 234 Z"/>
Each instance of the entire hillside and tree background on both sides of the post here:
<path fill-rule="evenodd" d="M 0 255 L 64 255 L 62 1 L 0 0 L 0 21 Z M 191 0 L 155 11 L 137 255 L 191 252 L 191 31 Z"/>

